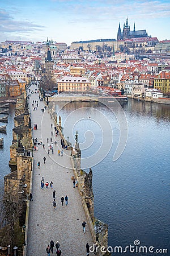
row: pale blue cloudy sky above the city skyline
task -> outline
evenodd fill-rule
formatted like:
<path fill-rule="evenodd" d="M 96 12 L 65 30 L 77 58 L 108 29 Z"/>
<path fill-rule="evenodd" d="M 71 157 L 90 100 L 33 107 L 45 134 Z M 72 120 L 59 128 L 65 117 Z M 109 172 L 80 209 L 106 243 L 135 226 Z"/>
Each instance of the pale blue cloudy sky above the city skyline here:
<path fill-rule="evenodd" d="M 118 24 L 170 39 L 169 0 L 0 0 L 0 42 L 117 39 Z"/>

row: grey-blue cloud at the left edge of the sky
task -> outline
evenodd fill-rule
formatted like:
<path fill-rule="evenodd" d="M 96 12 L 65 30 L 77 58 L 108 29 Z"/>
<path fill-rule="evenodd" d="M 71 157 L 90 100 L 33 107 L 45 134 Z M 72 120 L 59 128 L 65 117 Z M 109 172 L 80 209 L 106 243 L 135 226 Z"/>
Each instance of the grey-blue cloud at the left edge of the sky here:
<path fill-rule="evenodd" d="M 15 20 L 5 9 L 0 9 L 1 32 L 31 32 L 42 30 L 44 26 L 29 21 Z"/>

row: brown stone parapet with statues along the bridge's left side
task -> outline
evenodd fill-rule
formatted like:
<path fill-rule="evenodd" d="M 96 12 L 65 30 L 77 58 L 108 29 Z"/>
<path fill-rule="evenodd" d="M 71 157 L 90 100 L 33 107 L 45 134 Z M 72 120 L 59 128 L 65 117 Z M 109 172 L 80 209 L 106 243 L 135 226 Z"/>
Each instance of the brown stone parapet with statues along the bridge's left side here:
<path fill-rule="evenodd" d="M 19 96 L 16 100 L 14 128 L 12 129 L 12 144 L 10 146 L 10 162 L 9 165 L 15 171 L 4 177 L 5 196 L 12 194 L 12 201 L 19 207 L 19 211 L 14 210 L 13 220 L 19 223 L 18 233 L 20 240 L 16 241 L 14 226 L 11 226 L 11 234 L 6 235 L 6 243 L 10 245 L 10 253 L 13 253 L 13 247 L 18 247 L 18 255 L 24 255 L 25 241 L 27 241 L 28 212 L 29 212 L 29 193 L 32 184 L 33 169 L 33 143 L 31 118 L 29 114 L 28 101 L 26 93 Z M 32 156 L 31 156 L 32 154 Z M 23 230 L 23 226 L 25 229 Z"/>

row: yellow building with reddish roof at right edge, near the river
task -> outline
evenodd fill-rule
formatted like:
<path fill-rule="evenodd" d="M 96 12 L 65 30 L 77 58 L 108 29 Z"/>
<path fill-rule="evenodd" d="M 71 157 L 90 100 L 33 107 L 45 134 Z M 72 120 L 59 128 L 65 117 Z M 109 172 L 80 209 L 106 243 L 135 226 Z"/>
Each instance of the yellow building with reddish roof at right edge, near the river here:
<path fill-rule="evenodd" d="M 162 90 L 163 93 L 170 92 L 170 72 L 162 71 L 154 78 L 154 88 Z"/>

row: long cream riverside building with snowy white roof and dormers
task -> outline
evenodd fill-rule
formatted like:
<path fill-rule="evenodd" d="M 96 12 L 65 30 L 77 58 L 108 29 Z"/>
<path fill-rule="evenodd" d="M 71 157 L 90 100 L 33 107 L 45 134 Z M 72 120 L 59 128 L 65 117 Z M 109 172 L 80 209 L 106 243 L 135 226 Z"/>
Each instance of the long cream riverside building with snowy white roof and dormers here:
<path fill-rule="evenodd" d="M 91 87 L 91 83 L 86 77 L 62 77 L 58 81 L 58 92 L 84 92 Z"/>

